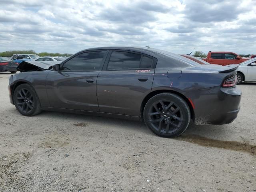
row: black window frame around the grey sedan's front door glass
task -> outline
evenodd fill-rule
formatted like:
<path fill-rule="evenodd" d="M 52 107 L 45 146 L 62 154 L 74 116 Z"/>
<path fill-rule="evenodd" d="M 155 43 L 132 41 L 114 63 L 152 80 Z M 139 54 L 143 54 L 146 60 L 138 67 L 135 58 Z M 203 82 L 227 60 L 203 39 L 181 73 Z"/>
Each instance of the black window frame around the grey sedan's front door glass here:
<path fill-rule="evenodd" d="M 88 53 L 88 52 L 100 52 L 100 51 L 106 51 L 106 54 L 104 55 L 104 58 L 102 59 L 102 62 L 100 64 L 100 69 L 98 69 L 98 70 L 63 70 L 62 69 L 66 62 L 68 62 L 69 60 L 71 60 L 72 58 L 74 58 L 74 57 L 76 57 L 76 56 L 78 56 L 80 54 Z M 103 68 L 104 63 L 106 61 L 108 53 L 109 53 L 108 49 L 95 49 L 95 50 L 87 50 L 87 51 L 78 52 L 77 54 L 74 54 L 73 56 L 71 56 L 67 60 L 64 60 L 64 62 L 60 63 L 60 71 L 63 71 L 63 72 L 102 71 L 102 68 Z"/>

